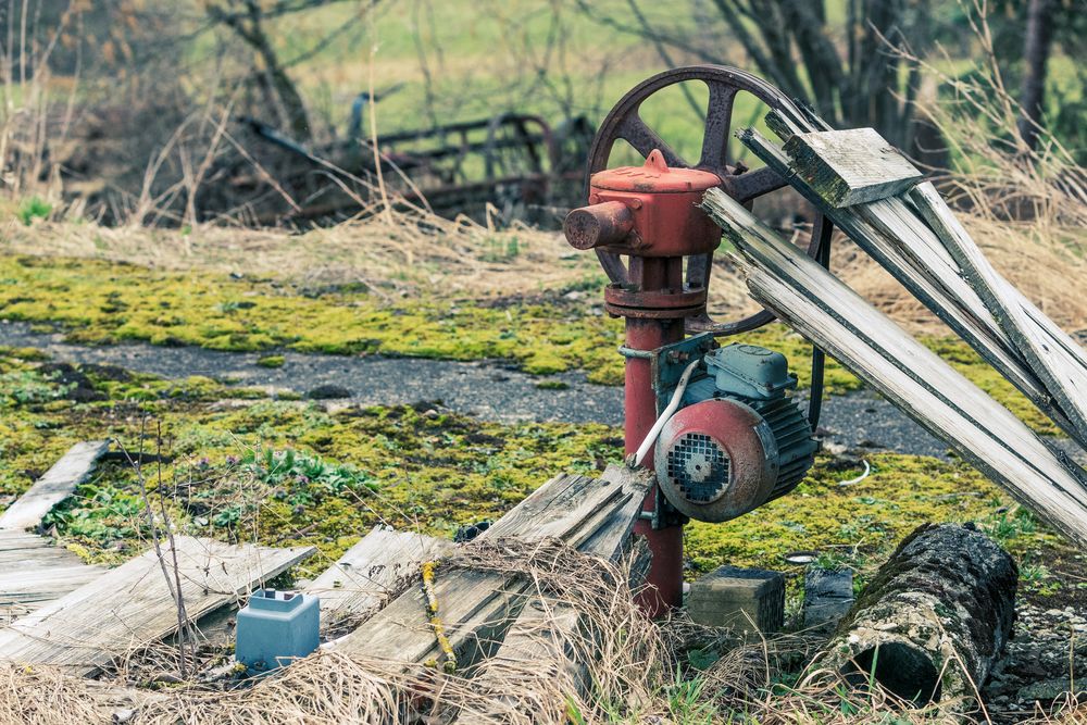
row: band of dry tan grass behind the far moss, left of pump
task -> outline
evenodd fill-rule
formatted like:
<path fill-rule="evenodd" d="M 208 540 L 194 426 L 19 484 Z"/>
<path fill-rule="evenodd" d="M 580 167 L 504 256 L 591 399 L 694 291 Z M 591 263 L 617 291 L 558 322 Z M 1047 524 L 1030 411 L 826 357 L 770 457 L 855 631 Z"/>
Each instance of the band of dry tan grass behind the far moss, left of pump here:
<path fill-rule="evenodd" d="M 161 270 L 210 270 L 292 282 L 360 282 L 375 291 L 435 288 L 516 295 L 561 288 L 597 275 L 554 233 L 498 230 L 466 218 L 397 212 L 318 227 L 200 226 L 191 232 L 92 224 L 10 223 L 0 250 L 130 262 Z"/>

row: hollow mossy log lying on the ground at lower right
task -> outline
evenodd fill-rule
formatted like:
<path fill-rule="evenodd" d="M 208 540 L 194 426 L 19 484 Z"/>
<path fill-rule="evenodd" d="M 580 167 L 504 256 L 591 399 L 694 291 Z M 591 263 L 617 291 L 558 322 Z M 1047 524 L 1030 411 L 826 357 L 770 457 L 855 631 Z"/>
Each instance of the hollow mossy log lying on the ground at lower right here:
<path fill-rule="evenodd" d="M 961 710 L 1011 633 L 1019 572 L 972 524 L 925 524 L 891 554 L 814 667 Z"/>

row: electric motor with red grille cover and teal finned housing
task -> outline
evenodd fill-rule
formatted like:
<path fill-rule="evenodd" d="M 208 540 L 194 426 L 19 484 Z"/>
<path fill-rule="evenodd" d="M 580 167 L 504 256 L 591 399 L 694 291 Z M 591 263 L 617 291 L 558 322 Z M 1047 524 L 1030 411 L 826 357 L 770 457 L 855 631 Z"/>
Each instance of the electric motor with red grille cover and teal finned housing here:
<path fill-rule="evenodd" d="M 785 355 L 730 345 L 703 364 L 661 429 L 657 478 L 679 512 L 723 522 L 796 488 L 819 443 L 788 395 L 797 378 Z"/>

